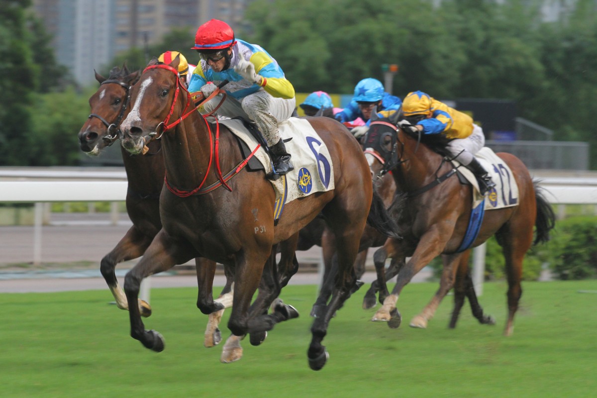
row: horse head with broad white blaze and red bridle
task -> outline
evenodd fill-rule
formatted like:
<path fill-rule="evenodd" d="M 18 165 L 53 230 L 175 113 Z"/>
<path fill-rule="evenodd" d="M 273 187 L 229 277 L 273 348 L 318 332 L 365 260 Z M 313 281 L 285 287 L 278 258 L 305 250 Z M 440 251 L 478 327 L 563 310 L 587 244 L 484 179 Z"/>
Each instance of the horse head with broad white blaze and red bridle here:
<path fill-rule="evenodd" d="M 131 112 L 121 124 L 121 144 L 128 152 L 144 153 L 147 143 L 176 125 L 189 107 L 190 94 L 177 70 L 179 61 L 177 56 L 164 64 L 154 57 L 131 90 Z M 178 106 L 181 102 L 184 110 Z M 177 122 L 168 125 L 170 120 Z"/>

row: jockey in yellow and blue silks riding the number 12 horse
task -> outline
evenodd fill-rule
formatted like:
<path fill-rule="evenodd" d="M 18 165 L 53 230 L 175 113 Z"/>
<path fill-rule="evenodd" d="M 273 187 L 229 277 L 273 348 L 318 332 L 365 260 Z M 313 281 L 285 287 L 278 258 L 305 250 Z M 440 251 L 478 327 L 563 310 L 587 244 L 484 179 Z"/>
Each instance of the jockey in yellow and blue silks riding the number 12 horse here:
<path fill-rule="evenodd" d="M 469 115 L 458 112 L 424 92 L 414 91 L 404 97 L 402 116 L 404 119 L 398 122 L 401 128 L 417 133 L 421 131 L 423 134 L 444 134 L 450 139 L 446 149 L 454 159 L 475 174 L 481 195 L 496 186 L 487 170 L 473 156 L 485 145 L 485 135 Z"/>

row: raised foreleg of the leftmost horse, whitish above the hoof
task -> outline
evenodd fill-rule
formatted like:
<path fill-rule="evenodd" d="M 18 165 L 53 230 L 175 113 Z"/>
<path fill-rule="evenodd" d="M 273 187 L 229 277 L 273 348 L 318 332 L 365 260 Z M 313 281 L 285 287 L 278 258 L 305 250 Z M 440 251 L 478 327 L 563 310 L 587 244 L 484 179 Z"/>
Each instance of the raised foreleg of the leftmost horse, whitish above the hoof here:
<path fill-rule="evenodd" d="M 125 296 L 124 291 L 122 291 L 118 279 L 116 278 L 116 264 L 141 257 L 152 239 L 153 236 L 147 236 L 136 226 L 132 226 L 125 236 L 122 237 L 120 242 L 118 242 L 116 247 L 101 259 L 101 275 L 106 280 L 106 283 L 114 296 L 116 306 L 122 310 L 128 310 L 128 303 L 127 297 Z M 139 300 L 139 309 L 141 311 L 141 316 L 147 317 L 151 315 L 151 307 L 143 300 Z"/>

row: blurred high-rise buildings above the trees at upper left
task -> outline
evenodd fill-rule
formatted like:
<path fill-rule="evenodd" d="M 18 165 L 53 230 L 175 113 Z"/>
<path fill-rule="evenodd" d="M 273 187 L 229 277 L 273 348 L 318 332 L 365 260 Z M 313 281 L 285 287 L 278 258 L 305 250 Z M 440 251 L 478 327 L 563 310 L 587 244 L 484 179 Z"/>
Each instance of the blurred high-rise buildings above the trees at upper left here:
<path fill-rule="evenodd" d="M 211 18 L 233 28 L 248 0 L 33 0 L 33 9 L 54 35 L 59 63 L 81 85 L 122 51 L 161 41 L 173 28 L 195 29 Z"/>

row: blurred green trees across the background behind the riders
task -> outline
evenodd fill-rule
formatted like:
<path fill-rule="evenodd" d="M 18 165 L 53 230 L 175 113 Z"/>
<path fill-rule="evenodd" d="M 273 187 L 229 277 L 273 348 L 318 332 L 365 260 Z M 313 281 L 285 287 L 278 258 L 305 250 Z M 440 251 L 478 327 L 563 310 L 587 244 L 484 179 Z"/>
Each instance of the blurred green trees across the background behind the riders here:
<path fill-rule="evenodd" d="M 597 5 L 577 0 L 556 21 L 543 1 L 255 0 L 238 38 L 259 44 L 297 92 L 349 94 L 359 80 L 383 81 L 395 63 L 393 94 L 513 100 L 518 116 L 555 131 L 558 141 L 588 141 L 597 169 Z M 0 165 L 76 165 L 78 132 L 97 89 L 77 87 L 32 16 L 30 0 L 0 0 Z M 166 50 L 189 50 L 196 27 L 181 27 L 149 48 L 120 54 L 142 69 Z M 90 70 L 90 75 L 93 70 Z M 523 159 L 524 160 L 524 159 Z"/>

